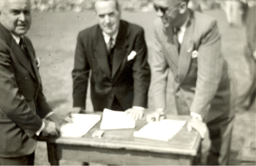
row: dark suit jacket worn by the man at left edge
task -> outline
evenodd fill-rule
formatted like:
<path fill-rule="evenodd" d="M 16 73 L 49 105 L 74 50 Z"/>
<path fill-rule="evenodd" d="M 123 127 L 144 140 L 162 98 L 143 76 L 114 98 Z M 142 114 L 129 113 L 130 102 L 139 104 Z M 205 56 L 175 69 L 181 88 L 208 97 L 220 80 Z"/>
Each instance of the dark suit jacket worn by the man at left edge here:
<path fill-rule="evenodd" d="M 35 52 L 24 37 L 30 61 L 0 24 L 0 156 L 19 157 L 36 149 L 35 133 L 51 112 L 42 93 Z"/>

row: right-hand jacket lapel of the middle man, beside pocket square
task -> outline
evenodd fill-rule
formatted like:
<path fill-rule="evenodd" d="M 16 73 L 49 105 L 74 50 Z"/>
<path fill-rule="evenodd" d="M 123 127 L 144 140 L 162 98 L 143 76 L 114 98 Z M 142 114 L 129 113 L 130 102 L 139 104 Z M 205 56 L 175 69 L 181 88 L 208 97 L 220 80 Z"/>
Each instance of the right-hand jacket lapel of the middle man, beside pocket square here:
<path fill-rule="evenodd" d="M 123 22 L 120 22 L 119 34 L 117 35 L 117 41 L 115 44 L 115 52 L 113 57 L 113 71 L 112 78 L 117 73 L 121 64 L 125 64 L 127 48 L 129 43 L 127 42 L 127 26 L 123 25 Z"/>

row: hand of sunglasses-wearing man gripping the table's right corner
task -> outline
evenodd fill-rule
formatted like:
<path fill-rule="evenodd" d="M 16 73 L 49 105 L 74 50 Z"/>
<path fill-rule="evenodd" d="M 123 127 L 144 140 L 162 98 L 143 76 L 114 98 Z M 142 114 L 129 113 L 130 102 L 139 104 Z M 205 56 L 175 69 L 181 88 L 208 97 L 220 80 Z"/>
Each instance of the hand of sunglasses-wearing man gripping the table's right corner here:
<path fill-rule="evenodd" d="M 202 120 L 198 120 L 197 118 L 191 118 L 189 122 L 187 122 L 187 130 L 191 131 L 192 128 L 199 132 L 201 138 L 205 137 L 207 132 L 207 126 Z"/>

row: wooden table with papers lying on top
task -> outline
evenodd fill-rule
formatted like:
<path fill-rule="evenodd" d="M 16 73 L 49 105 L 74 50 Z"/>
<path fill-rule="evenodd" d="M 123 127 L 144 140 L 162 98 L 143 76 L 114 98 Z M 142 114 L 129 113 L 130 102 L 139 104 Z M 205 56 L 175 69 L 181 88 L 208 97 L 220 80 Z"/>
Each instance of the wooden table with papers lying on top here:
<path fill-rule="evenodd" d="M 189 116 L 168 116 L 173 120 L 189 120 Z M 93 138 L 100 130 L 100 122 L 82 138 L 45 138 L 51 165 L 59 160 L 106 163 L 108 165 L 192 165 L 199 159 L 201 138 L 195 130 L 188 132 L 186 125 L 168 142 L 133 137 L 133 132 L 146 125 L 136 122 L 133 129 L 104 130 L 102 138 Z"/>

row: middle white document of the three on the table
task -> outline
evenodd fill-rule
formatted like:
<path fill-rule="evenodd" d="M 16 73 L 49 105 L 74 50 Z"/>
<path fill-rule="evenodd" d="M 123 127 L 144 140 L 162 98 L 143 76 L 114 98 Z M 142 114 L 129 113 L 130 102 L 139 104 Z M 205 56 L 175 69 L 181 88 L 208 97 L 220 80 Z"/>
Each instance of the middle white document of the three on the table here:
<path fill-rule="evenodd" d="M 100 124 L 101 130 L 113 130 L 121 128 L 135 128 L 135 120 L 133 120 L 125 112 L 118 112 L 104 109 L 102 121 Z"/>

